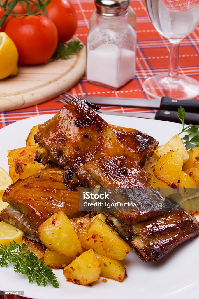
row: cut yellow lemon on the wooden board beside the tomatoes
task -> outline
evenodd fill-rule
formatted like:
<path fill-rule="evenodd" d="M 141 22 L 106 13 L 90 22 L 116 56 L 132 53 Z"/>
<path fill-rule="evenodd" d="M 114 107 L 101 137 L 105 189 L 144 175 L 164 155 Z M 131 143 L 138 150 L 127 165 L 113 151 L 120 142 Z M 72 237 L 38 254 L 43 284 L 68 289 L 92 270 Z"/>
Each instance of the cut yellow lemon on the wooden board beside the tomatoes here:
<path fill-rule="evenodd" d="M 18 52 L 12 39 L 0 32 L 0 79 L 17 74 Z"/>

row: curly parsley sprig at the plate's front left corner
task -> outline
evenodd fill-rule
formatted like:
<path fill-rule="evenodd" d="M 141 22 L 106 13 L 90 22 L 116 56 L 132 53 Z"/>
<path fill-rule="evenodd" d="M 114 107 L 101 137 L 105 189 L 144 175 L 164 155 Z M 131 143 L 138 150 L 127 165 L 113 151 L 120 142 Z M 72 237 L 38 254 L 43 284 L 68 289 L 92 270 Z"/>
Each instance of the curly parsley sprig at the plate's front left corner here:
<path fill-rule="evenodd" d="M 0 245 L 0 267 L 7 267 L 8 263 L 14 263 L 14 271 L 27 275 L 29 283 L 36 281 L 38 286 L 52 284 L 59 288 L 59 283 L 50 266 L 45 266 L 44 261 L 28 249 L 27 244 L 16 244 L 16 241 L 7 245 Z"/>

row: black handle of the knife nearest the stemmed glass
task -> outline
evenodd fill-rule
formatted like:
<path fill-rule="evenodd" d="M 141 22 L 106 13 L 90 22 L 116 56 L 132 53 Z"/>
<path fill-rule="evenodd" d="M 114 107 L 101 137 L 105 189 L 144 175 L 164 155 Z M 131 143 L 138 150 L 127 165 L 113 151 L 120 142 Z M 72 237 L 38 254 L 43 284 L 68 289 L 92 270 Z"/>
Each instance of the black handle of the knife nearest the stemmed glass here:
<path fill-rule="evenodd" d="M 199 100 L 176 100 L 171 97 L 162 97 L 160 102 L 161 110 L 178 111 L 178 108 L 182 106 L 185 112 L 199 112 Z"/>

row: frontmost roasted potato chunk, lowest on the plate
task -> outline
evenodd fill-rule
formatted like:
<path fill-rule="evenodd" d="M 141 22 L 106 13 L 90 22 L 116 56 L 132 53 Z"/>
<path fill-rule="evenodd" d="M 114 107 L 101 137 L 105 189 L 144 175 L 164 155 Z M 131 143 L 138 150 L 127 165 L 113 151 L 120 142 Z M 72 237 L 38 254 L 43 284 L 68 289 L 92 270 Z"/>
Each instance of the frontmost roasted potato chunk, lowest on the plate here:
<path fill-rule="evenodd" d="M 100 263 L 92 249 L 83 252 L 64 268 L 68 282 L 89 285 L 100 278 Z"/>

